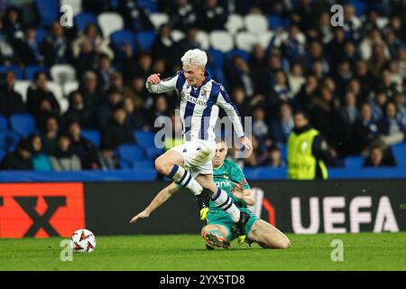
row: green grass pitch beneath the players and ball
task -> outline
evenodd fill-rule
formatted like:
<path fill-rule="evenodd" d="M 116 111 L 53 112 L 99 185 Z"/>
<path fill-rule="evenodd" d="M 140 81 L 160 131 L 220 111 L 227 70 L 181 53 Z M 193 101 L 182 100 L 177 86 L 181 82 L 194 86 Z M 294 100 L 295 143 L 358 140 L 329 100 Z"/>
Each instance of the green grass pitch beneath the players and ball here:
<path fill-rule="evenodd" d="M 406 270 L 406 232 L 288 235 L 287 250 L 206 250 L 198 235 L 97 237 L 90 254 L 60 261 L 62 238 L 0 239 L 0 270 Z M 331 261 L 333 239 L 344 261 Z"/>

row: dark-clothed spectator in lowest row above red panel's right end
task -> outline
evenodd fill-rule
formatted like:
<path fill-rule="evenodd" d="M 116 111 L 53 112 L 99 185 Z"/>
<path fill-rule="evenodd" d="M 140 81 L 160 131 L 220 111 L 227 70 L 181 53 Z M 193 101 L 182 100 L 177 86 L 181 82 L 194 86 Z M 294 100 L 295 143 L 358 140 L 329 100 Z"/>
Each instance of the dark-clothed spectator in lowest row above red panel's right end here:
<path fill-rule="evenodd" d="M 81 128 L 78 121 L 73 121 L 68 127 L 71 148 L 73 154 L 80 158 L 83 170 L 97 170 L 100 168 L 97 162 L 97 149 L 88 139 L 80 135 Z"/>

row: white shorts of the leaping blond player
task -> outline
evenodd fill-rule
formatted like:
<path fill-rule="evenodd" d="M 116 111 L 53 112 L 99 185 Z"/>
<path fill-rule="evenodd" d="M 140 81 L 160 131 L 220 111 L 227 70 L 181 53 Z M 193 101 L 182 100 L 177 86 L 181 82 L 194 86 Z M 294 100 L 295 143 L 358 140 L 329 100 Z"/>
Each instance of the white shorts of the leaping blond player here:
<path fill-rule="evenodd" d="M 196 178 L 199 173 L 213 174 L 211 162 L 216 153 L 216 142 L 198 139 L 172 147 L 171 150 L 183 155 L 185 162 L 183 165 L 189 168 L 193 178 Z"/>

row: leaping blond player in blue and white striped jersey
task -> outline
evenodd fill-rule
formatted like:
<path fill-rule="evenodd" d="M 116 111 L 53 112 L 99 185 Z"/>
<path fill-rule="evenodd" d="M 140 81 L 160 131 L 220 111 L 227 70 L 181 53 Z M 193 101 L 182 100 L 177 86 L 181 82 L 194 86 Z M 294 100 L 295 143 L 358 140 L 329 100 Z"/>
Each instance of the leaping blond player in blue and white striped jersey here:
<path fill-rule="evenodd" d="M 211 79 L 205 70 L 208 62 L 206 52 L 198 49 L 186 51 L 181 61 L 182 70 L 170 79 L 161 80 L 160 74 L 152 74 L 146 82 L 146 88 L 152 93 L 171 90 L 177 92 L 185 140 L 184 144 L 175 146 L 158 157 L 155 168 L 173 182 L 193 192 L 198 201 L 200 219 L 206 219 L 210 200 L 226 211 L 235 222 L 239 242 L 243 243 L 249 215 L 238 210 L 233 201 L 227 198 L 226 191 L 217 188 L 213 181 L 211 159 L 216 150 L 214 126 L 219 107 L 230 117 L 235 133 L 248 152 L 252 151 L 251 140 L 245 136 L 239 113 L 226 89 Z M 183 166 L 189 167 L 189 170 L 185 170 Z"/>

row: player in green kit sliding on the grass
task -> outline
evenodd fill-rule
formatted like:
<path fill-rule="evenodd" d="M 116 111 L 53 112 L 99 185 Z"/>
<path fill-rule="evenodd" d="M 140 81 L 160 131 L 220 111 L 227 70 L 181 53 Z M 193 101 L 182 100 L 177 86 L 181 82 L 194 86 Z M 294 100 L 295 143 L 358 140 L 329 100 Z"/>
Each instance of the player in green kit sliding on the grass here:
<path fill-rule="evenodd" d="M 256 242 L 264 248 L 288 248 L 291 241 L 279 229 L 259 219 L 247 206 L 254 206 L 254 193 L 249 184 L 245 181 L 244 172 L 240 167 L 229 160 L 226 160 L 227 145 L 224 140 L 218 140 L 216 153 L 213 158 L 214 181 L 218 187 L 226 191 L 228 197 L 234 200 L 239 210 L 250 215 L 249 221 L 245 224 L 246 241 Z M 180 186 L 172 182 L 165 189 L 160 191 L 152 200 L 151 204 L 142 212 L 136 215 L 131 222 L 150 216 L 152 211 L 158 209 L 161 204 L 171 198 L 180 190 Z M 208 249 L 213 247 L 230 247 L 230 242 L 235 238 L 233 219 L 223 210 L 210 202 L 208 211 L 208 225 L 201 229 L 201 236 L 206 240 Z"/>

